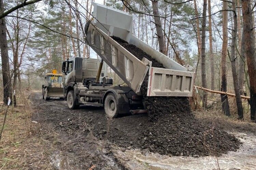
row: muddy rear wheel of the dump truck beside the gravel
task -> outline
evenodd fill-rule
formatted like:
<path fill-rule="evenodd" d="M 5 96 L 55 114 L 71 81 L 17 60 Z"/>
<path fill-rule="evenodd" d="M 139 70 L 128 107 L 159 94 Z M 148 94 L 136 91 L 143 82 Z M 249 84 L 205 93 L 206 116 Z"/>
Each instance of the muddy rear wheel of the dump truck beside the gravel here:
<path fill-rule="evenodd" d="M 109 93 L 106 96 L 104 110 L 108 118 L 115 118 L 118 115 L 117 101 L 113 93 Z"/>

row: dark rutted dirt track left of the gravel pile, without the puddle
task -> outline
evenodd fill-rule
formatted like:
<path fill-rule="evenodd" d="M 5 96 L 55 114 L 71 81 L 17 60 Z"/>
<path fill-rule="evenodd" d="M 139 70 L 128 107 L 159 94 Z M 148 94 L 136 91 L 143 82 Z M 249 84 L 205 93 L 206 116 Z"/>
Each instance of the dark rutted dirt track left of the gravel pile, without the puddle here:
<path fill-rule="evenodd" d="M 109 121 L 102 107 L 80 106 L 80 109 L 70 110 L 67 108 L 66 101 L 44 101 L 39 93 L 36 93 L 31 101 L 34 108 L 32 121 L 40 123 L 41 135 L 54 143 L 57 148 L 49 160 L 53 167 L 57 169 L 89 169 L 94 166 L 97 169 L 133 169 L 135 167 L 147 169 L 121 151 L 125 151 L 134 142 L 128 141 L 124 134 L 136 136 L 130 129 L 139 126 L 138 119 L 146 119 L 146 115 L 132 115 Z M 127 123 L 127 120 L 130 123 Z M 120 126 L 122 125 L 120 122 L 123 121 L 126 122 L 123 123 L 126 127 Z M 110 129 L 113 142 L 105 140 Z M 114 142 L 115 138 L 125 141 L 123 148 L 116 146 L 118 143 Z"/>

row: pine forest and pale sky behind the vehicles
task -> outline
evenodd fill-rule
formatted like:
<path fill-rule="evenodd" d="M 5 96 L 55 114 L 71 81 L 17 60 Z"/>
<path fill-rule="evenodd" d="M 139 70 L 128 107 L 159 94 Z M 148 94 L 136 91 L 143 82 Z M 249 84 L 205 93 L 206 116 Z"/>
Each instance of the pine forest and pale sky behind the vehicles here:
<path fill-rule="evenodd" d="M 46 73 L 61 73 L 62 62 L 73 57 L 99 59 L 85 40 L 92 2 L 131 14 L 132 35 L 194 67 L 189 103 L 198 117 L 255 128 L 255 0 L 0 0 L 0 140 L 9 104 L 10 112 L 22 107 L 26 124 L 31 119 L 30 95 L 41 93 Z M 109 67 L 108 75 L 125 84 Z M 27 125 L 28 134 L 41 133 L 34 126 Z"/>

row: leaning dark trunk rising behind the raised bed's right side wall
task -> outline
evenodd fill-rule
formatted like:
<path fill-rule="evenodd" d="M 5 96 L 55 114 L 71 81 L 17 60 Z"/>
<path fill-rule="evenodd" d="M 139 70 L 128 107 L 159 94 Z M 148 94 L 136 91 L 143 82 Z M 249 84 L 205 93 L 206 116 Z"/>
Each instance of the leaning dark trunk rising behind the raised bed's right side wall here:
<path fill-rule="evenodd" d="M 165 42 L 163 40 L 163 31 L 162 31 L 162 24 L 159 16 L 158 11 L 158 0 L 151 0 L 152 1 L 152 8 L 153 8 L 153 14 L 154 14 L 154 20 L 156 25 L 156 34 L 158 39 L 158 45 L 159 45 L 159 51 L 165 55 L 167 55 L 165 50 Z"/>

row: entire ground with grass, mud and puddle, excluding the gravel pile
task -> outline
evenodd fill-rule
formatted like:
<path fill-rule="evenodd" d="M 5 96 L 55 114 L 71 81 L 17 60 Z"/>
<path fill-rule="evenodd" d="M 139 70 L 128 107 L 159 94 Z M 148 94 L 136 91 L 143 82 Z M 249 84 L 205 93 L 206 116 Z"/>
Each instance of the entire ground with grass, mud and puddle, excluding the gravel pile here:
<path fill-rule="evenodd" d="M 168 156 L 133 148 L 146 114 L 106 119 L 102 107 L 69 110 L 66 101 L 30 97 L 32 113 L 9 113 L 0 141 L 1 169 L 253 169 L 256 161 L 256 125 L 208 113 L 197 119 L 217 126 L 243 143 L 222 156 Z M 0 113 L 0 124 L 3 114 Z M 31 121 L 38 122 L 37 124 Z M 95 130 L 96 129 L 96 130 Z M 111 133 L 110 133 L 111 132 Z M 114 143 L 119 140 L 123 143 Z M 129 138 L 127 138 L 128 136 Z M 123 145 L 123 147 L 120 147 Z M 232 145 L 230 143 L 230 145 Z"/>

